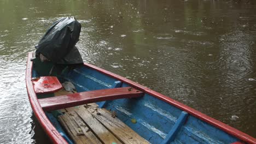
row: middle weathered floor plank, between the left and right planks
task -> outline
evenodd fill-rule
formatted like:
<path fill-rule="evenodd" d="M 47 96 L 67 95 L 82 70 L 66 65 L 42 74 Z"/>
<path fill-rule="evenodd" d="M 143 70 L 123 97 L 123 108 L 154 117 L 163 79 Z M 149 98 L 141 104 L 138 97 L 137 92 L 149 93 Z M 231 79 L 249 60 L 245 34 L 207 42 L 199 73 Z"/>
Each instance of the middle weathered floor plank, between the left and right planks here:
<path fill-rule="evenodd" d="M 85 109 L 80 106 L 79 109 L 75 110 L 78 115 L 85 121 L 90 127 L 92 132 L 104 143 L 121 143 L 112 133 L 108 131 L 97 119 Z"/>

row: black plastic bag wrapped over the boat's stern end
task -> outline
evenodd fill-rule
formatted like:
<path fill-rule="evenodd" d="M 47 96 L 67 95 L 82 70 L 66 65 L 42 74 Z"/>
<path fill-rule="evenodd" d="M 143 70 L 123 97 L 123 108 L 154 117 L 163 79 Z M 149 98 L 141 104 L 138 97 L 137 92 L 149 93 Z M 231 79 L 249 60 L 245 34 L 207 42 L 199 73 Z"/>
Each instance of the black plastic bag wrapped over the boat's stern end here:
<path fill-rule="evenodd" d="M 36 46 L 39 53 L 56 64 L 81 64 L 83 59 L 75 44 L 81 24 L 74 17 L 64 17 L 53 23 Z"/>

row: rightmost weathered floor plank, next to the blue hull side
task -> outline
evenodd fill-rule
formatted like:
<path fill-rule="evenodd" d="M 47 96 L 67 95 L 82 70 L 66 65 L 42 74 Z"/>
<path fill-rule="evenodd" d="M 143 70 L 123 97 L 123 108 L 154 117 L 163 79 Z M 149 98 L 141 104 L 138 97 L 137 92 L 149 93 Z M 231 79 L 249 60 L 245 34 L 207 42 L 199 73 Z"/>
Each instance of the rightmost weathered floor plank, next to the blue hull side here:
<path fill-rule="evenodd" d="M 125 123 L 120 121 L 120 119 L 113 117 L 111 115 L 112 113 L 108 112 L 106 109 L 88 107 L 87 110 L 121 142 L 127 144 L 149 143 Z"/>

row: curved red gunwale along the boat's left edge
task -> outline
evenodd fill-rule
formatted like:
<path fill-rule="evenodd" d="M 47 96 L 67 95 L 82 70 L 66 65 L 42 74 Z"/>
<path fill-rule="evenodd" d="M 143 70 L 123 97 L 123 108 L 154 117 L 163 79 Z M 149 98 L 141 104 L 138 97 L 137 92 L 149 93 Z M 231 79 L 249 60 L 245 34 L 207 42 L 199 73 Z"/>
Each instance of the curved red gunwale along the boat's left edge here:
<path fill-rule="evenodd" d="M 32 70 L 32 62 L 30 59 L 32 58 L 32 52 L 28 53 L 27 58 L 27 69 L 26 69 L 26 85 L 27 85 L 27 94 L 28 99 L 30 100 L 30 104 L 32 107 L 32 110 L 34 112 L 34 115 L 37 117 L 38 122 L 46 132 L 46 134 L 50 137 L 51 141 L 53 143 L 67 143 L 65 139 L 59 134 L 59 132 L 55 129 L 53 124 L 49 121 L 49 119 L 46 117 L 43 109 L 41 108 L 37 95 L 34 92 L 33 84 L 31 81 L 31 70 Z"/>

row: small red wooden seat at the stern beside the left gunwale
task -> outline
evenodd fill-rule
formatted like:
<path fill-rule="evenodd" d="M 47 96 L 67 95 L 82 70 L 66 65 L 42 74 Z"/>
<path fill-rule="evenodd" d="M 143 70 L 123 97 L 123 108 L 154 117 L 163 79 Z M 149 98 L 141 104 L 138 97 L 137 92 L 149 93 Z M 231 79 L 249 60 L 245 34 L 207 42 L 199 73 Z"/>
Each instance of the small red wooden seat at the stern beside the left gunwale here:
<path fill-rule="evenodd" d="M 54 93 L 62 88 L 56 76 L 41 76 L 38 79 L 32 80 L 32 83 L 37 94 Z"/>

